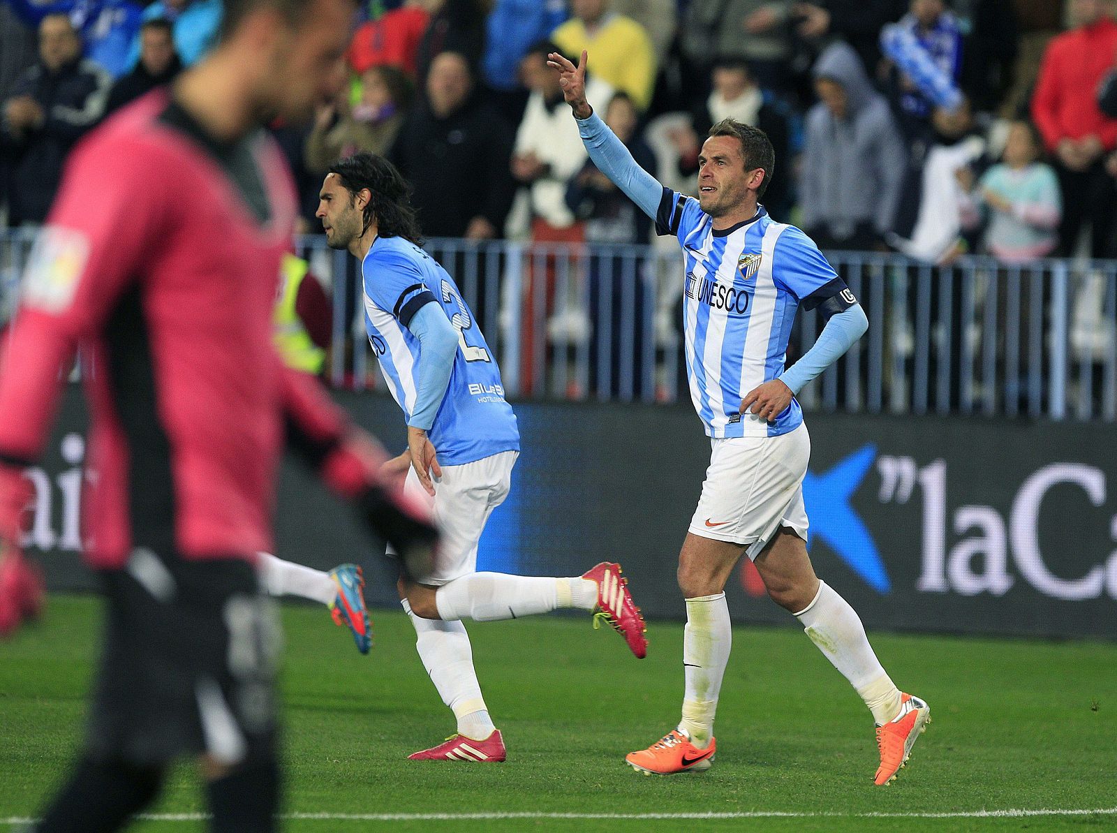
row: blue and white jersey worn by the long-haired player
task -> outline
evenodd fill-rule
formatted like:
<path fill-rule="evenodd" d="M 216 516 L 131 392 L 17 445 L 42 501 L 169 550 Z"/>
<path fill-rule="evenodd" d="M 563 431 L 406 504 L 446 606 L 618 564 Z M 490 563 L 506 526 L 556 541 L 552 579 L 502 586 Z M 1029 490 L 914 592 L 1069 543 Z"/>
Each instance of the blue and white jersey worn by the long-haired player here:
<path fill-rule="evenodd" d="M 364 324 L 392 396 L 407 419 L 416 406 L 422 362 L 408 329 L 422 307 L 438 303 L 458 333 L 450 384 L 428 435 L 443 466 L 519 450 L 516 415 L 504 399 L 500 368 L 454 278 L 426 251 L 400 237 L 378 237 L 361 264 Z"/>

